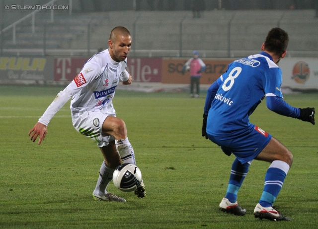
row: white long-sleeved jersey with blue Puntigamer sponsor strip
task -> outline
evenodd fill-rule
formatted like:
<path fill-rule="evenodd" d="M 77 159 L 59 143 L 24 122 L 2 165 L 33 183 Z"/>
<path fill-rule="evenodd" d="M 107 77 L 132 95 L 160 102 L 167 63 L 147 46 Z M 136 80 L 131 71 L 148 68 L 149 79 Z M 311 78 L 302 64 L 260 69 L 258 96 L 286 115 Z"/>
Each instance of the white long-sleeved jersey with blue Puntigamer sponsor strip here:
<path fill-rule="evenodd" d="M 74 80 L 56 96 L 40 117 L 39 122 L 48 125 L 54 114 L 71 98 L 72 113 L 82 111 L 114 113 L 112 99 L 115 95 L 115 88 L 120 80 L 129 79 L 126 66 L 127 59 L 121 62 L 114 61 L 110 57 L 108 49 L 94 55 L 87 60 Z"/>

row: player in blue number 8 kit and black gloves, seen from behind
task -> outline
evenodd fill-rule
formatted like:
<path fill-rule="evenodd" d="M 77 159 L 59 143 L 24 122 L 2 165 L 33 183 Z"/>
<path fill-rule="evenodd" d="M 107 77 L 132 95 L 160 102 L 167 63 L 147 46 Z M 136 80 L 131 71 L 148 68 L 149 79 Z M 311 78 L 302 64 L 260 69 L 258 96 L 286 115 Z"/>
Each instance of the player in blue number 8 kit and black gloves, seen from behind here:
<path fill-rule="evenodd" d="M 277 139 L 249 122 L 249 115 L 266 97 L 266 106 L 271 111 L 315 124 L 315 108 L 294 108 L 283 100 L 282 71 L 277 63 L 285 57 L 288 41 L 284 30 L 271 29 L 260 54 L 230 63 L 227 71 L 208 89 L 202 136 L 221 146 L 228 156 L 232 153 L 236 156 L 226 196 L 220 203 L 220 210 L 224 212 L 245 215 L 237 195 L 252 160 L 256 159 L 271 164 L 254 209 L 255 218 L 291 221 L 281 215 L 273 203 L 293 163 L 293 155 Z"/>

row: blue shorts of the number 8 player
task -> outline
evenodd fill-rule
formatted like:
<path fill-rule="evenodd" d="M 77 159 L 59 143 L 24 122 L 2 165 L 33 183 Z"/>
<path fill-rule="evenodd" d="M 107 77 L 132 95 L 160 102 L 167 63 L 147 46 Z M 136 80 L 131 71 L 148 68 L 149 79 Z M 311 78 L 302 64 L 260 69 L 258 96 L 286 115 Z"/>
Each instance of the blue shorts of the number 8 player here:
<path fill-rule="evenodd" d="M 226 137 L 210 134 L 208 136 L 212 142 L 221 146 L 223 151 L 232 152 L 242 164 L 253 160 L 272 138 L 272 135 L 253 124 L 239 134 L 233 132 Z"/>

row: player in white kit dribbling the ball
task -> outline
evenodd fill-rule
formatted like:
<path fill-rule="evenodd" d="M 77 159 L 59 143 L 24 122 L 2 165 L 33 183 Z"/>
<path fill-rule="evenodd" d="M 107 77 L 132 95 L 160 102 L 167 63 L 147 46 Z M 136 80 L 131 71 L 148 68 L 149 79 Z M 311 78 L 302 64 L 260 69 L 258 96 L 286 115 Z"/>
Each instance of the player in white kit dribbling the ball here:
<path fill-rule="evenodd" d="M 131 43 L 130 32 L 125 27 L 115 27 L 110 33 L 109 48 L 87 60 L 79 74 L 56 96 L 29 132 L 33 142 L 39 136 L 40 145 L 47 134 L 51 118 L 72 98 L 71 112 L 75 129 L 96 140 L 105 159 L 93 191 L 94 199 L 99 201 L 126 202 L 124 198 L 107 192 L 106 188 L 117 166 L 121 163 L 136 165 L 126 124 L 116 117 L 112 104 L 119 81 L 125 85 L 132 83 L 132 76 L 125 69 Z M 146 196 L 144 182 L 141 182 L 135 194 L 139 198 Z"/>

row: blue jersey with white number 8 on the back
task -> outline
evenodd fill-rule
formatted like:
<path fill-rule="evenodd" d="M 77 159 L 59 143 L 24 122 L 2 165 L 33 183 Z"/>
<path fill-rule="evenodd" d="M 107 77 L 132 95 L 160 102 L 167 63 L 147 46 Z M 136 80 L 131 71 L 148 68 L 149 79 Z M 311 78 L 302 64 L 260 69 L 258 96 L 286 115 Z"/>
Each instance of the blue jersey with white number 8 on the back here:
<path fill-rule="evenodd" d="M 264 96 L 283 97 L 282 71 L 265 52 L 230 63 L 218 84 L 206 129 L 214 136 L 244 133 L 251 125 L 249 115 Z"/>

